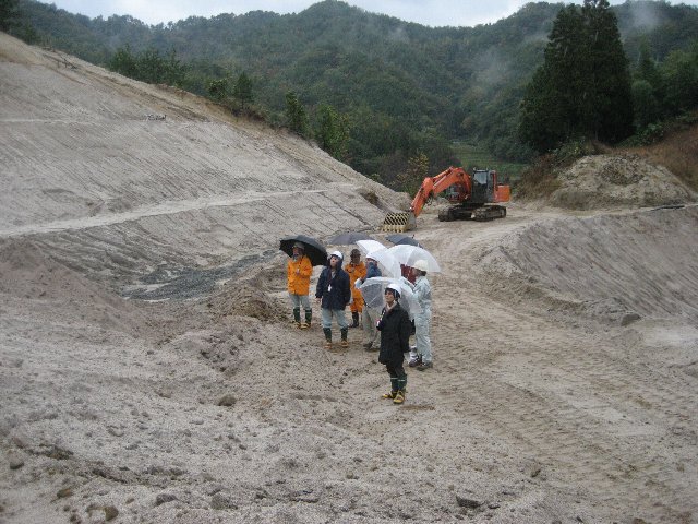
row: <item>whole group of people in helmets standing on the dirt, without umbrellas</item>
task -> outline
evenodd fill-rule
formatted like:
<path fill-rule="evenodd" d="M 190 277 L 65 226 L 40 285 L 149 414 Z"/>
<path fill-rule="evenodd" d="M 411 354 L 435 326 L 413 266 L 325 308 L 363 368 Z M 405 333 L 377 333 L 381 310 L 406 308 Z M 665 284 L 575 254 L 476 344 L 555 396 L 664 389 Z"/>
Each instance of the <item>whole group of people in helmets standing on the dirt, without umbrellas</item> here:
<path fill-rule="evenodd" d="M 313 318 L 309 299 L 313 266 L 304 251 L 305 246 L 302 242 L 293 243 L 292 255 L 287 266 L 293 323 L 300 329 L 310 327 Z M 363 264 L 360 251 L 353 249 L 350 253 L 350 262 L 344 267 L 342 262 L 344 255 L 340 251 L 329 253 L 327 265 L 320 274 L 315 287 L 315 299 L 321 306 L 325 348 L 333 347 L 333 319 L 339 327 L 339 344 L 342 348 L 347 348 L 349 347 L 349 327 L 358 327 L 359 318 L 361 318 L 364 349 L 380 350 L 378 362 L 385 365 L 390 376 L 390 391 L 385 393 L 383 398 L 402 404 L 407 386 L 405 354 L 410 355 L 408 366 L 411 368 L 424 371 L 433 367 L 430 333 L 432 291 L 426 279 L 428 263 L 424 260 L 418 260 L 410 269 L 414 282 L 412 293 L 419 303 L 419 311 L 414 313 L 412 324 L 406 308 L 400 305 L 400 288 L 396 284 L 386 286 L 382 308 L 374 309 L 364 303 L 359 286 L 369 278 L 382 276 L 378 264 L 371 253 L 366 255 L 366 263 Z M 346 317 L 347 306 L 351 311 L 351 325 Z M 414 346 L 410 346 L 409 343 L 412 332 L 416 338 Z M 381 342 L 376 347 L 378 337 Z"/>

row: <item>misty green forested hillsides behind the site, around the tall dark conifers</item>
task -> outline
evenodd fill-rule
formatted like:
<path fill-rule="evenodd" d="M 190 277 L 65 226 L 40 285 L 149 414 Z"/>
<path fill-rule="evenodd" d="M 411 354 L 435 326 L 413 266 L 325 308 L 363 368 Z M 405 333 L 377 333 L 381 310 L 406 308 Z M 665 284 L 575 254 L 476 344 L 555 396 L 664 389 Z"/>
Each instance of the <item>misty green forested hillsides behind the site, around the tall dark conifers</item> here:
<path fill-rule="evenodd" d="M 561 16 L 574 22 L 573 11 L 582 12 L 537 2 L 494 24 L 431 28 L 325 0 L 298 14 L 255 11 L 149 26 L 35 0 L 8 3 L 17 8 L 8 29 L 27 41 L 286 126 L 393 187 L 405 187 L 400 175 L 416 164 L 432 174 L 460 164 L 455 142 L 515 162 L 558 146 L 556 138 L 537 141 L 538 128 L 521 132 L 521 123 L 527 107 L 550 102 L 531 100 L 531 85 L 552 71 L 542 69 L 553 31 L 564 28 Z M 607 124 L 595 122 L 595 138 L 651 140 L 664 119 L 698 107 L 698 9 L 628 1 L 607 11 L 631 104 L 622 132 L 604 133 L 598 128 Z"/>

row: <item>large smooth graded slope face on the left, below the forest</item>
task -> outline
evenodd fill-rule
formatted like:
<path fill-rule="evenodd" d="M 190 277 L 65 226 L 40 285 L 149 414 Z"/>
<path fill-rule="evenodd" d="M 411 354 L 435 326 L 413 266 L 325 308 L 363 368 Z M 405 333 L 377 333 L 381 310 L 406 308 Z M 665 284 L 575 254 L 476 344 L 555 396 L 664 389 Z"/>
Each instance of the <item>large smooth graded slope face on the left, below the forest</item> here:
<path fill-rule="evenodd" d="M 0 108 L 0 236 L 75 266 L 244 259 L 371 228 L 405 198 L 297 136 L 4 34 Z"/>

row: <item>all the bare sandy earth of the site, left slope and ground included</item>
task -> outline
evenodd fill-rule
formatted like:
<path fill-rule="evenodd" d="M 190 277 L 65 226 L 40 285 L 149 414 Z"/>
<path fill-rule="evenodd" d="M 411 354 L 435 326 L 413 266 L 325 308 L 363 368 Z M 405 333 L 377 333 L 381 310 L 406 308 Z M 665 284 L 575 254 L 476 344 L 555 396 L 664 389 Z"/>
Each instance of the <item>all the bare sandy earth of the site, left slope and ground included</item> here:
<path fill-rule="evenodd" d="M 695 205 L 428 209 L 435 367 L 397 407 L 361 331 L 288 325 L 276 242 L 399 195 L 189 95 L 0 58 L 0 522 L 698 522 Z"/>

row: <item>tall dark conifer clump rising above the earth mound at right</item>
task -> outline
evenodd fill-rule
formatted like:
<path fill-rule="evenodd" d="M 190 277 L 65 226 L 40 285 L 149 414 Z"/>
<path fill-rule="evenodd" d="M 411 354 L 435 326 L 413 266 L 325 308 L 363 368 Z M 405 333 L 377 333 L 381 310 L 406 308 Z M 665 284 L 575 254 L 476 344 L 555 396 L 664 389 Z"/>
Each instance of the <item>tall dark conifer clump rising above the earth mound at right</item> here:
<path fill-rule="evenodd" d="M 574 138 L 633 132 L 630 73 L 606 0 L 561 9 L 520 106 L 519 136 L 543 153 Z"/>

